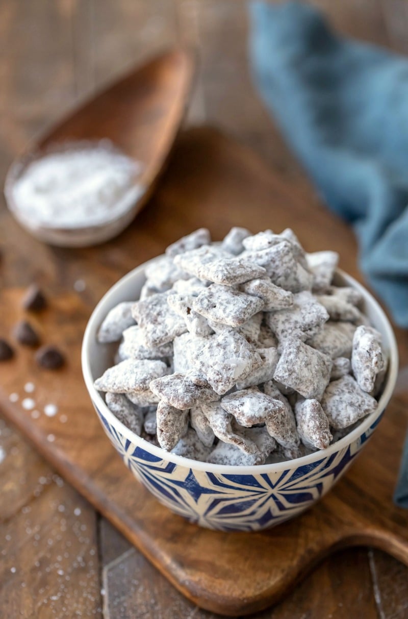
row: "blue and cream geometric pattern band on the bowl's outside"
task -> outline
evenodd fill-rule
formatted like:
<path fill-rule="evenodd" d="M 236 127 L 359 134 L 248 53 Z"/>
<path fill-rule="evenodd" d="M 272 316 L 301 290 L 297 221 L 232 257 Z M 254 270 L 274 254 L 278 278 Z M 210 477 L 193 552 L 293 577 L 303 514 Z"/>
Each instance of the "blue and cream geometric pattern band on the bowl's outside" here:
<path fill-rule="evenodd" d="M 190 522 L 224 531 L 265 529 L 305 511 L 346 472 L 380 420 L 350 445 L 316 462 L 259 475 L 223 475 L 154 456 L 96 412 L 124 464 L 161 503 Z"/>

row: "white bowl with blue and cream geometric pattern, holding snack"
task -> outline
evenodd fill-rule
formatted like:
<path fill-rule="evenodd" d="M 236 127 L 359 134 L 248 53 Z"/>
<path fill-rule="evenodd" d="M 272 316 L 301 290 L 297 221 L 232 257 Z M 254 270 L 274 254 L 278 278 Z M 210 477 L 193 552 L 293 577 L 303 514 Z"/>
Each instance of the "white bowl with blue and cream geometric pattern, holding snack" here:
<path fill-rule="evenodd" d="M 113 365 L 115 350 L 110 345 L 98 344 L 98 327 L 117 303 L 138 298 L 147 264 L 150 262 L 125 275 L 104 295 L 90 317 L 83 338 L 83 376 L 109 440 L 124 464 L 158 501 L 200 526 L 255 531 L 299 515 L 320 500 L 346 472 L 380 422 L 393 393 L 397 345 L 385 313 L 365 288 L 350 275 L 338 271 L 336 283 L 352 286 L 362 294 L 364 311 L 381 332 L 389 355 L 378 409 L 349 435 L 324 451 L 278 464 L 237 467 L 197 462 L 164 451 L 135 435 L 117 420 L 93 387 L 93 381 Z"/>

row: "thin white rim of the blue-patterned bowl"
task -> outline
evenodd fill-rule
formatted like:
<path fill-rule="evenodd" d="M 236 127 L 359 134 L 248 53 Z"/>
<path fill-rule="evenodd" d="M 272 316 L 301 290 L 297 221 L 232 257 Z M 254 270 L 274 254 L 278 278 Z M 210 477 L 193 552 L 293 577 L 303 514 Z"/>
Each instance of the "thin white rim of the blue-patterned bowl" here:
<path fill-rule="evenodd" d="M 357 428 L 351 431 L 351 433 L 347 434 L 336 443 L 332 443 L 327 449 L 320 449 L 319 451 L 315 451 L 312 454 L 308 454 L 308 456 L 302 456 L 300 458 L 295 458 L 292 460 L 285 460 L 283 462 L 276 462 L 273 464 L 258 464 L 252 466 L 232 466 L 229 464 L 211 464 L 210 462 L 202 462 L 198 460 L 192 460 L 190 458 L 185 458 L 184 456 L 177 456 L 176 454 L 172 454 L 169 451 L 165 451 L 161 447 L 157 447 L 152 443 L 149 443 L 141 436 L 138 436 L 132 430 L 129 430 L 122 422 L 120 422 L 114 414 L 108 409 L 103 398 L 101 397 L 100 392 L 96 391 L 93 386 L 94 378 L 91 374 L 90 368 L 90 359 L 88 355 L 89 344 L 91 338 L 96 335 L 96 328 L 100 326 L 101 321 L 106 316 L 106 310 L 104 309 L 104 305 L 111 295 L 118 288 L 121 288 L 127 280 L 132 279 L 135 275 L 140 275 L 141 271 L 145 271 L 148 264 L 156 261 L 158 258 L 162 258 L 162 256 L 157 256 L 157 258 L 153 258 L 148 262 L 143 262 L 138 267 L 124 275 L 119 281 L 116 282 L 111 288 L 109 288 L 108 292 L 104 294 L 104 296 L 99 301 L 98 305 L 96 305 L 95 309 L 91 313 L 90 319 L 88 320 L 87 327 L 85 329 L 85 334 L 83 335 L 82 342 L 82 373 L 83 378 L 85 380 L 85 385 L 87 386 L 88 393 L 90 394 L 92 402 L 96 405 L 96 407 L 100 410 L 103 417 L 106 418 L 108 423 L 114 426 L 125 438 L 131 441 L 136 446 L 144 449 L 145 451 L 153 454 L 153 456 L 159 457 L 162 460 L 173 462 L 174 464 L 178 464 L 179 466 L 183 466 L 189 469 L 200 470 L 208 473 L 218 473 L 222 475 L 262 475 L 271 472 L 280 472 L 288 469 L 294 469 L 300 466 L 305 466 L 307 464 L 312 464 L 313 462 L 318 462 L 326 457 L 333 455 L 334 453 L 341 451 L 341 449 L 352 444 L 355 439 L 359 438 L 368 428 L 375 422 L 375 420 L 380 417 L 381 413 L 384 412 L 386 406 L 388 405 L 391 396 L 393 395 L 394 387 L 397 379 L 397 371 L 398 371 L 398 350 L 397 350 L 397 342 L 395 339 L 395 335 L 391 324 L 389 323 L 388 318 L 386 317 L 385 312 L 379 305 L 379 303 L 375 300 L 368 290 L 363 287 L 363 285 L 359 284 L 357 280 L 354 279 L 351 275 L 347 274 L 345 271 L 341 269 L 337 269 L 337 272 L 341 277 L 347 280 L 349 284 L 352 285 L 353 288 L 356 288 L 361 294 L 364 300 L 370 305 L 373 306 L 376 313 L 380 316 L 381 322 L 383 323 L 383 329 L 386 333 L 386 337 L 389 341 L 389 363 L 388 363 L 388 373 L 386 379 L 386 386 L 381 394 L 380 400 L 378 400 L 378 407 L 375 412 L 368 415 Z M 125 299 L 124 299 L 125 300 Z M 152 463 L 154 465 L 154 463 Z"/>

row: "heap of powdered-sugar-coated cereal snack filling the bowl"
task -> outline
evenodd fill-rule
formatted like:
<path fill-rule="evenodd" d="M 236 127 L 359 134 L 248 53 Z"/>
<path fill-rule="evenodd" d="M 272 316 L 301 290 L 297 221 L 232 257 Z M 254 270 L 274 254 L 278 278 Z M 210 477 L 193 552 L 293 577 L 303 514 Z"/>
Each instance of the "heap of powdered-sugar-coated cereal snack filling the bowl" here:
<path fill-rule="evenodd" d="M 145 270 L 98 331 L 109 410 L 178 456 L 252 466 L 327 449 L 374 412 L 387 359 L 339 256 L 295 233 L 200 228 Z"/>

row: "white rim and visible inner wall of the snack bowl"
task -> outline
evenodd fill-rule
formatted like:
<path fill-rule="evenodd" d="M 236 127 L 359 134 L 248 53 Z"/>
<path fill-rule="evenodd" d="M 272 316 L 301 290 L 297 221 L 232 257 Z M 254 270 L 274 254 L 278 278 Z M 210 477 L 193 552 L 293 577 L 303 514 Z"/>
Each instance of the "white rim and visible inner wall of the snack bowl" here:
<path fill-rule="evenodd" d="M 93 404 L 100 410 L 103 416 L 108 420 L 111 425 L 117 428 L 117 430 L 125 436 L 125 438 L 132 441 L 137 446 L 145 449 L 145 451 L 151 452 L 155 456 L 160 457 L 169 462 L 174 462 L 175 464 L 179 464 L 185 467 L 190 467 L 196 470 L 204 470 L 211 472 L 219 472 L 222 474 L 240 474 L 240 475 L 249 475 L 249 474 L 262 474 L 271 471 L 279 471 L 279 470 L 287 470 L 291 468 L 298 467 L 300 465 L 309 464 L 321 459 L 321 457 L 326 457 L 331 455 L 334 452 L 339 451 L 340 449 L 346 447 L 348 444 L 351 444 L 353 441 L 359 439 L 365 430 L 370 428 L 373 422 L 377 417 L 380 416 L 381 412 L 385 409 L 386 405 L 391 398 L 391 395 L 394 390 L 394 386 L 396 383 L 397 377 L 397 368 L 398 368 L 398 355 L 397 355 L 397 345 L 394 337 L 393 329 L 389 324 L 388 318 L 386 317 L 383 309 L 381 309 L 380 305 L 376 302 L 376 300 L 370 295 L 370 293 L 357 282 L 351 275 L 347 275 L 343 271 L 339 270 L 336 272 L 334 283 L 336 285 L 348 285 L 353 288 L 359 290 L 363 297 L 363 306 L 362 309 L 367 314 L 368 318 L 372 322 L 373 326 L 375 326 L 378 331 L 380 331 L 383 337 L 383 346 L 388 353 L 389 357 L 389 366 L 388 373 L 386 375 L 385 384 L 383 386 L 383 392 L 381 394 L 380 400 L 378 402 L 377 410 L 369 415 L 367 418 L 362 420 L 362 423 L 357 426 L 354 430 L 351 431 L 348 435 L 344 436 L 341 440 L 333 443 L 329 446 L 328 449 L 324 451 L 313 452 L 308 456 L 304 456 L 302 458 L 298 458 L 291 461 L 283 461 L 278 462 L 276 464 L 263 464 L 257 466 L 242 466 L 242 467 L 232 467 L 228 465 L 219 465 L 219 464 L 208 464 L 206 462 L 198 462 L 195 460 L 190 460 L 181 456 L 176 456 L 175 454 L 171 454 L 164 449 L 156 447 L 148 441 L 145 441 L 140 436 L 135 435 L 129 428 L 126 428 L 116 417 L 114 417 L 113 413 L 111 413 L 106 406 L 103 397 L 101 394 L 96 391 L 95 387 L 93 387 L 93 381 L 96 378 L 103 374 L 104 370 L 109 366 L 113 365 L 114 353 L 117 349 L 117 344 L 98 344 L 96 340 L 96 333 L 98 332 L 98 328 L 105 318 L 106 314 L 110 309 L 116 306 L 121 301 L 132 301 L 137 300 L 140 295 L 140 290 L 145 282 L 145 268 L 151 262 L 146 262 L 142 264 L 140 267 L 134 269 L 127 275 L 125 275 L 117 284 L 115 284 L 104 297 L 101 299 L 100 303 L 96 306 L 93 311 L 91 318 L 88 322 L 87 329 L 85 331 L 85 335 L 83 338 L 82 345 L 82 369 L 83 376 L 85 379 L 85 383 L 87 385 L 88 392 L 90 393 L 91 399 L 93 400 Z"/>

